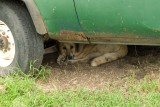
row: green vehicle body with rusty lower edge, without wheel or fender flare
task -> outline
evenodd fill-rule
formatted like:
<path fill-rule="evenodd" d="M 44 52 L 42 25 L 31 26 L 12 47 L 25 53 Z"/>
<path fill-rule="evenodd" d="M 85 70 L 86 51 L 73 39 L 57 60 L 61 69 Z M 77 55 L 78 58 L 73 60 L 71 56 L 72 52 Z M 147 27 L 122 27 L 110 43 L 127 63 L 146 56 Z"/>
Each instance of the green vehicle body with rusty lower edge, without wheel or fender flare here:
<path fill-rule="evenodd" d="M 46 29 L 42 34 L 52 39 L 160 45 L 159 0 L 34 0 L 34 3 Z"/>

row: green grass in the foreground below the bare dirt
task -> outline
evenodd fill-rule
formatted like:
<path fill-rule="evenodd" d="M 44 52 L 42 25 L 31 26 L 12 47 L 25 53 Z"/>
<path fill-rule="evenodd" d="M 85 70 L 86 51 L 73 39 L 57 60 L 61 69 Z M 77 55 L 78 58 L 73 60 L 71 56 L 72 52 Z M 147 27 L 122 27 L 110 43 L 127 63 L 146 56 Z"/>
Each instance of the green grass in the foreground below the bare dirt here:
<path fill-rule="evenodd" d="M 43 73 L 42 73 L 43 74 Z M 40 74 L 38 74 L 40 75 Z M 42 75 L 43 77 L 44 75 Z M 158 107 L 160 85 L 146 77 L 127 78 L 124 87 L 106 85 L 102 90 L 73 88 L 43 91 L 36 78 L 12 74 L 0 78 L 0 107 Z"/>

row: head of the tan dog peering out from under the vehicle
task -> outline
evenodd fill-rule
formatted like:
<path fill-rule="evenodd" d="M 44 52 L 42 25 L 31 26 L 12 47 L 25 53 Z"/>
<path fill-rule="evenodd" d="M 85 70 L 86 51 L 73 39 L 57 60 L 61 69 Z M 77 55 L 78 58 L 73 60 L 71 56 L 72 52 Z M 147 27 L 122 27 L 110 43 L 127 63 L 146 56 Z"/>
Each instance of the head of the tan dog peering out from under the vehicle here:
<path fill-rule="evenodd" d="M 65 56 L 66 59 L 74 59 L 76 53 L 76 44 L 74 43 L 59 43 L 59 52 Z"/>

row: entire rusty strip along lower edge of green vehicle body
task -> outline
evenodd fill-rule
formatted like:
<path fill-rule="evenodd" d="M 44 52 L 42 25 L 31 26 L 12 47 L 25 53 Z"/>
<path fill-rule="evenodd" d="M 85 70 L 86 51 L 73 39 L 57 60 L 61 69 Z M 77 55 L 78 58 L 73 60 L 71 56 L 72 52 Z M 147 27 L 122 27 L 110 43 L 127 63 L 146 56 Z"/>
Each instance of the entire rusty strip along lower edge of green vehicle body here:
<path fill-rule="evenodd" d="M 160 45 L 160 38 L 144 38 L 138 34 L 95 33 L 87 37 L 91 43 L 96 44 Z M 62 42 L 89 43 L 83 32 L 62 31 L 53 39 Z"/>

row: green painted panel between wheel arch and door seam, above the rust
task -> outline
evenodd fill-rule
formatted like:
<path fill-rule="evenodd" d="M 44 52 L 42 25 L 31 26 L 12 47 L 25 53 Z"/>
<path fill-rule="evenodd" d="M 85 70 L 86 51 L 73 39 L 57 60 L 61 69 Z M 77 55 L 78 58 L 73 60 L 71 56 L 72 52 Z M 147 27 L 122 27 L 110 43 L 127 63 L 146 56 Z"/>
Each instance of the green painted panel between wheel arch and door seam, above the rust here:
<path fill-rule="evenodd" d="M 62 30 L 79 31 L 73 0 L 35 0 L 52 36 Z"/>

